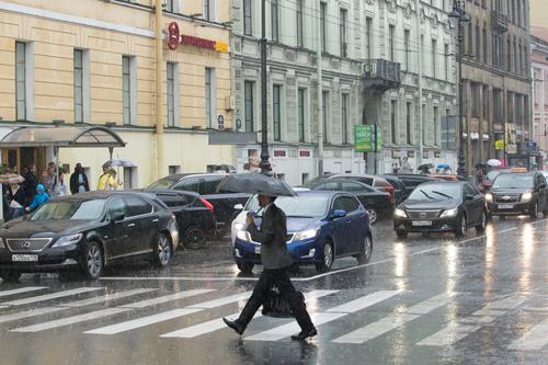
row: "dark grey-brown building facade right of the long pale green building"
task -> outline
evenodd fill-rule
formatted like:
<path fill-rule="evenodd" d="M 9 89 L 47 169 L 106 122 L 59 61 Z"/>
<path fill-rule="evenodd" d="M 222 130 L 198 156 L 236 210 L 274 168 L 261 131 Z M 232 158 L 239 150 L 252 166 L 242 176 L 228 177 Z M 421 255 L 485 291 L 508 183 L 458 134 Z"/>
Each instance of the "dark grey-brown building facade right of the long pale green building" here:
<path fill-rule="evenodd" d="M 466 1 L 464 25 L 466 168 L 496 158 L 528 166 L 528 0 Z"/>

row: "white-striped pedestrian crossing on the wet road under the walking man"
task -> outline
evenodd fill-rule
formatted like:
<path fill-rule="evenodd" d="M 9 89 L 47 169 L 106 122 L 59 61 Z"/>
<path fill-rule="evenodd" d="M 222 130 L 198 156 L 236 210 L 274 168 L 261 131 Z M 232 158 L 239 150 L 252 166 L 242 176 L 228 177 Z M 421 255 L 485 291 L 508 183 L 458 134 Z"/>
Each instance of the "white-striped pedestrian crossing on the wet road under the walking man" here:
<path fill-rule="evenodd" d="M 454 346 L 482 329 L 492 328 L 498 320 L 510 320 L 525 312 L 533 322 L 515 331 L 514 337 L 502 339 L 504 343 L 501 345 L 509 351 L 544 351 L 548 347 L 548 308 L 538 304 L 527 306 L 527 301 L 535 297 L 530 293 L 487 299 L 487 303 L 473 305 L 473 310 L 463 311 L 453 319 L 441 313 L 472 294 L 425 294 L 391 289 L 317 289 L 306 292 L 305 300 L 319 330 L 320 341 L 339 345 L 376 341 L 392 331 L 421 326 L 421 319 L 427 317 L 435 319 L 435 329 L 418 331 L 421 339 L 409 339 L 409 344 L 433 349 Z M 151 333 L 170 341 L 192 341 L 221 333 L 233 335 L 224 324 L 222 317 L 236 318 L 250 296 L 249 290 L 230 293 L 225 288 L 170 292 L 157 287 L 119 290 L 102 286 L 67 289 L 16 287 L 0 290 L 3 299 L 0 303 L 0 331 L 43 333 L 67 329 L 87 337 L 107 337 L 138 331 L 149 333 L 145 331 L 158 327 L 159 330 Z M 374 320 L 369 319 L 370 312 L 375 313 Z M 262 318 L 259 311 L 243 340 L 288 341 L 298 331 L 295 320 Z"/>

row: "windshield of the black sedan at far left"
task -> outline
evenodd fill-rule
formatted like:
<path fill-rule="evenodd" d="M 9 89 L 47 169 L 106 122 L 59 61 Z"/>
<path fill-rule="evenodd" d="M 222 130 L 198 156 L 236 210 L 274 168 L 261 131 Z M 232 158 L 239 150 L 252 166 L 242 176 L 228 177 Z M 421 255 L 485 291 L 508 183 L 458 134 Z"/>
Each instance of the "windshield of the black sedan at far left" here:
<path fill-rule="evenodd" d="M 36 210 L 31 220 L 96 220 L 104 205 L 104 199 L 50 202 Z"/>

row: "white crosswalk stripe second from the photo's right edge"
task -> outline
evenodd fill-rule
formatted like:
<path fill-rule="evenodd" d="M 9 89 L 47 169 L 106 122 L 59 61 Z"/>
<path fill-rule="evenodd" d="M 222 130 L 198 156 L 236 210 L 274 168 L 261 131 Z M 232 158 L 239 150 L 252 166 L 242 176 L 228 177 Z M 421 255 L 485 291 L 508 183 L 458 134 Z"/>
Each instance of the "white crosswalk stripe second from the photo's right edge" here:
<path fill-rule="evenodd" d="M 494 321 L 498 317 L 504 316 L 507 311 L 516 308 L 528 297 L 514 295 L 504 299 L 495 300 L 476 310 L 470 316 L 457 320 L 455 323 L 446 326 L 436 333 L 419 341 L 419 346 L 448 346 L 467 335 L 478 331 L 484 324 Z M 481 323 L 481 326 L 477 326 Z"/>

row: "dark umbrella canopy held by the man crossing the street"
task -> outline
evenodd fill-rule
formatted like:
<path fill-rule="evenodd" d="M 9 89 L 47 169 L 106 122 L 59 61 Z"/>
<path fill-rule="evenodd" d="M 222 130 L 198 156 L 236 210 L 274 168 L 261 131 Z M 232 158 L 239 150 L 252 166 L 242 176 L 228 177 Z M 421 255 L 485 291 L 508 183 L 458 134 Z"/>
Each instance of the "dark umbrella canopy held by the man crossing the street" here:
<path fill-rule="evenodd" d="M 269 196 L 296 196 L 297 193 L 285 181 L 261 173 L 237 173 L 225 178 L 219 191 L 263 194 Z"/>

